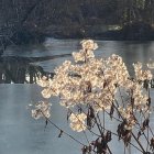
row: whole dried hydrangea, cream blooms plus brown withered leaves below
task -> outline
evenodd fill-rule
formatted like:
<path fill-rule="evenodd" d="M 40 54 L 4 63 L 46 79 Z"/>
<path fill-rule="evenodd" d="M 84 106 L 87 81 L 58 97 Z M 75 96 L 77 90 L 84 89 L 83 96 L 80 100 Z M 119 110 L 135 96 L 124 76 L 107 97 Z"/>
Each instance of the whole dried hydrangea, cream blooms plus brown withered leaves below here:
<path fill-rule="evenodd" d="M 151 98 L 147 89 L 150 88 L 148 80 L 153 76 L 150 70 L 142 70 L 142 64 L 138 63 L 133 64 L 135 77 L 131 78 L 122 57 L 113 54 L 106 59 L 96 58 L 94 52 L 98 45 L 92 40 L 82 41 L 81 46 L 82 48 L 78 53 L 73 53 L 75 62 L 65 61 L 55 68 L 53 79 L 43 77 L 37 84 L 44 88 L 42 91 L 44 98 L 59 97 L 61 105 L 72 110 L 67 119 L 74 131 L 91 130 L 97 123 L 101 142 L 96 140 L 94 145 L 97 147 L 97 152 L 100 151 L 98 154 L 106 154 L 107 148 L 109 151 L 107 143 L 111 141 L 111 132 L 107 131 L 107 135 L 101 132 L 102 128 L 98 124 L 97 116 L 101 111 L 109 111 L 108 113 L 112 118 L 117 111 L 119 120 L 121 120 L 117 132 L 119 139 L 122 139 L 128 146 L 133 128 L 140 125 L 139 113 L 142 112 L 144 119 L 148 118 Z M 121 101 L 117 99 L 118 95 L 121 97 Z M 127 97 L 127 100 L 123 99 L 123 96 Z M 34 119 L 43 116 L 50 118 L 50 110 L 48 103 L 40 102 L 32 110 L 32 117 Z M 144 133 L 148 124 L 144 122 L 141 125 L 140 132 Z M 103 148 L 102 144 L 105 144 Z M 91 148 L 84 146 L 82 151 L 86 154 L 91 152 Z"/>

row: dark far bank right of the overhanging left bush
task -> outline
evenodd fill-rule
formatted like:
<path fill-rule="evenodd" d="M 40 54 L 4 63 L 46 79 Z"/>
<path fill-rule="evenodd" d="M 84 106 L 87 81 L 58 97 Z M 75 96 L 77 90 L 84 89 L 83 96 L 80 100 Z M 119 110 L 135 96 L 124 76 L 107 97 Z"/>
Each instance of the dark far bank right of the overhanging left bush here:
<path fill-rule="evenodd" d="M 86 25 L 84 28 L 59 26 L 51 28 L 51 35 L 54 38 L 95 38 L 102 41 L 154 41 L 154 29 L 143 22 L 129 23 L 123 28 L 120 25 L 109 30 L 107 25 Z"/>

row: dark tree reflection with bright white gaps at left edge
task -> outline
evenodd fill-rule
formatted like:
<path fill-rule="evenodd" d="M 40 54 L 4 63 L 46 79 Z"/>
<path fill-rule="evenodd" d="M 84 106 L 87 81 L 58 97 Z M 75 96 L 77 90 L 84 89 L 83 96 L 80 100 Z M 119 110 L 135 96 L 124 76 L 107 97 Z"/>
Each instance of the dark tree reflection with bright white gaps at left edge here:
<path fill-rule="evenodd" d="M 13 57 L 0 61 L 0 84 L 33 84 L 45 74 L 41 66 L 31 65 L 25 61 Z"/>

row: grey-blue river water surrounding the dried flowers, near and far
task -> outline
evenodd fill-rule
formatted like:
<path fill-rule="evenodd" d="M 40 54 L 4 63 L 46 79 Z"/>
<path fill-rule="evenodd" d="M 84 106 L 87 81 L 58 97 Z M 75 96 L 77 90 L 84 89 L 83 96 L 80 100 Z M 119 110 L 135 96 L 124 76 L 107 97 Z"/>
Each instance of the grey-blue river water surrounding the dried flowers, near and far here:
<path fill-rule="evenodd" d="M 154 42 L 116 42 L 116 41 L 97 41 L 99 48 L 96 51 L 96 56 L 108 57 L 111 54 L 118 54 L 123 57 L 131 74 L 133 74 L 132 63 L 142 62 L 144 67 L 150 61 L 154 61 Z M 64 54 L 70 54 L 74 51 L 80 48 L 79 41 L 77 40 L 53 40 L 47 38 L 42 45 L 29 45 L 29 46 L 11 46 L 8 47 L 3 56 L 22 57 L 22 61 L 33 57 L 42 57 L 42 61 L 31 62 L 31 65 L 40 66 L 44 72 L 53 72 L 54 68 L 61 65 L 65 59 L 72 59 L 72 57 L 63 56 Z M 62 55 L 57 58 L 44 59 L 47 56 Z M 15 62 L 15 65 L 14 65 Z M 22 66 L 22 69 L 29 66 L 29 62 L 25 61 L 24 65 L 20 61 L 4 61 L 0 67 L 1 82 L 6 82 L 6 72 L 9 70 L 9 75 L 13 78 L 16 74 L 16 69 Z M 16 64 L 18 63 L 18 64 Z M 4 68 L 7 67 L 7 68 Z M 10 69 L 12 68 L 13 69 Z M 26 68 L 25 68 L 26 69 Z M 24 72 L 24 77 L 29 76 L 29 72 Z M 30 111 L 26 109 L 28 105 L 43 100 L 41 97 L 41 88 L 35 84 L 20 84 L 24 80 L 20 77 L 16 82 L 12 84 L 12 78 L 9 78 L 11 84 L 0 85 L 0 154 L 79 154 L 81 146 L 67 138 L 62 135 L 57 138 L 59 132 L 53 127 L 47 125 L 43 120 L 33 120 Z M 154 89 L 151 90 L 154 100 Z M 74 135 L 77 140 L 86 143 L 86 139 L 82 133 L 73 132 L 66 121 L 66 110 L 58 106 L 56 98 L 51 99 L 52 106 L 52 120 L 59 128 Z M 152 117 L 151 123 L 154 122 Z M 117 122 L 107 122 L 107 128 L 117 130 Z M 154 124 L 152 124 L 154 130 Z M 89 140 L 96 140 L 95 136 L 88 135 Z M 113 154 L 123 153 L 122 143 L 113 142 L 109 143 Z M 132 147 L 132 153 L 138 152 Z"/>

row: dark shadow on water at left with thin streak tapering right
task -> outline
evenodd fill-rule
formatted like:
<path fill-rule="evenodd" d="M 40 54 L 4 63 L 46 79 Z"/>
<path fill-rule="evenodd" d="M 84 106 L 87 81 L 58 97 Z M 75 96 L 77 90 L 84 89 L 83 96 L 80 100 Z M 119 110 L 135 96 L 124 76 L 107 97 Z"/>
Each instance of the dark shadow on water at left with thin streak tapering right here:
<path fill-rule="evenodd" d="M 35 84 L 42 76 L 53 77 L 54 73 L 45 72 L 32 63 L 69 56 L 70 54 L 45 57 L 0 57 L 0 84 Z"/>

